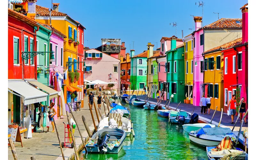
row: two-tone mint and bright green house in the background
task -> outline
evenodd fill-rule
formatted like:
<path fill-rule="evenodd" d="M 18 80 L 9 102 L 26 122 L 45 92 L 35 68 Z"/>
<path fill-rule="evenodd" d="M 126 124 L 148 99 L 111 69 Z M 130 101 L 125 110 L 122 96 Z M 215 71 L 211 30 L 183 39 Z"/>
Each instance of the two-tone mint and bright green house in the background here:
<path fill-rule="evenodd" d="M 134 50 L 131 50 L 134 54 Z M 144 51 L 131 57 L 131 89 L 138 90 L 147 86 L 147 57 L 148 51 Z M 133 87 L 134 86 L 134 87 Z"/>

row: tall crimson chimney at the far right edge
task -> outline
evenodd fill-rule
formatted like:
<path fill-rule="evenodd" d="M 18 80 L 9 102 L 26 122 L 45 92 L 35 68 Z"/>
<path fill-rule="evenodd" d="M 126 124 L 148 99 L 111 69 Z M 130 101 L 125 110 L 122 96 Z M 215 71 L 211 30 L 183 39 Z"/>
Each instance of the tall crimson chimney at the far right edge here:
<path fill-rule="evenodd" d="M 248 3 L 242 8 L 242 43 L 248 41 Z"/>

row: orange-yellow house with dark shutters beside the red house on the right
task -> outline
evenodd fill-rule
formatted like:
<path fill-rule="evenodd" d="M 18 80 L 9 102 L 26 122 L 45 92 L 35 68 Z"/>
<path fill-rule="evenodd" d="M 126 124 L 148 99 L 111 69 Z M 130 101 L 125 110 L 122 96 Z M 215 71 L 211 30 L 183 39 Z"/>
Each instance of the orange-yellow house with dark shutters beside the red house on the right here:
<path fill-rule="evenodd" d="M 208 85 L 207 93 L 211 98 L 211 109 L 221 110 L 224 107 L 223 92 L 223 55 L 221 55 L 220 47 L 212 48 L 203 52 L 204 60 L 208 61 L 204 66 L 204 86 Z M 205 87 L 204 87 L 205 88 Z"/>

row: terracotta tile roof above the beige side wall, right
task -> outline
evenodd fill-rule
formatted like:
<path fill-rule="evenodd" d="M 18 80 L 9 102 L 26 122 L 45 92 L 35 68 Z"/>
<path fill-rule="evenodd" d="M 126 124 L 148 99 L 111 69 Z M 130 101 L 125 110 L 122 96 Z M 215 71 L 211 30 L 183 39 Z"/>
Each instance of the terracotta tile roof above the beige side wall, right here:
<path fill-rule="evenodd" d="M 236 23 L 236 22 L 239 23 Z M 202 28 L 218 29 L 218 28 L 241 28 L 242 29 L 242 19 L 231 19 L 231 18 L 221 18 L 211 24 L 208 24 Z"/>

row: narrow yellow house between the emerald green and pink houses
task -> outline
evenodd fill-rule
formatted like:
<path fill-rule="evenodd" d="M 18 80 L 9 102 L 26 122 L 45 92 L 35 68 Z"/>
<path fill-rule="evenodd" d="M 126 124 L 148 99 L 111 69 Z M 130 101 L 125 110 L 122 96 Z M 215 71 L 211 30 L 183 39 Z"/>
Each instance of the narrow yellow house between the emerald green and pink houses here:
<path fill-rule="evenodd" d="M 194 38 L 192 34 L 184 37 L 185 95 L 193 104 Z"/>

